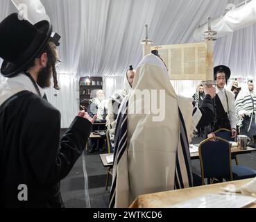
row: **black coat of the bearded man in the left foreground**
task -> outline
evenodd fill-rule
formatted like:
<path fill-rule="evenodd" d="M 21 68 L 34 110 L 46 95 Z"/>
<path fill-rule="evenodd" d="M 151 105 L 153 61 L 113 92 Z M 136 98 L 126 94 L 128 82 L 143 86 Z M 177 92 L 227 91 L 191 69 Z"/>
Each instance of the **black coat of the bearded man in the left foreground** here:
<path fill-rule="evenodd" d="M 0 207 L 63 207 L 60 180 L 83 153 L 92 123 L 76 117 L 60 139 L 60 112 L 31 92 L 0 107 Z M 20 201 L 19 185 L 28 188 Z"/>

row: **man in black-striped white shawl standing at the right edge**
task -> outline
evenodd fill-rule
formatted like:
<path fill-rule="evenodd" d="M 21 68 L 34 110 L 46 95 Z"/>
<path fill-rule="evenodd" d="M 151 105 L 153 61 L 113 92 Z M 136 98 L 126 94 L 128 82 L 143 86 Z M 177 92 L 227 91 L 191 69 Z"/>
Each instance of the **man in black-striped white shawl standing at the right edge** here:
<path fill-rule="evenodd" d="M 247 89 L 242 90 L 235 102 L 237 116 L 239 117 L 238 127 L 241 135 L 250 137 L 253 146 L 256 141 L 256 93 L 254 92 L 253 80 L 248 80 Z"/>

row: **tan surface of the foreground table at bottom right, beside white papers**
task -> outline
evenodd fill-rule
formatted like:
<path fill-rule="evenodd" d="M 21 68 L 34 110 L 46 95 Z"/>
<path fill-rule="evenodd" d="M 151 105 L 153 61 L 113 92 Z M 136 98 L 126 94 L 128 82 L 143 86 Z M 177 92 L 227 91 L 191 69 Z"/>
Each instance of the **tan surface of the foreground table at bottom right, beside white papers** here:
<path fill-rule="evenodd" d="M 227 185 L 234 185 L 239 188 L 246 185 L 251 180 L 253 179 L 236 180 L 202 187 L 191 187 L 155 194 L 146 194 L 139 196 L 134 203 L 130 205 L 130 208 L 169 208 L 171 205 L 176 205 L 186 200 L 204 196 L 205 194 L 218 194 L 219 191 L 221 191 L 220 188 L 226 187 Z M 256 203 L 249 205 L 248 208 L 256 208 Z"/>

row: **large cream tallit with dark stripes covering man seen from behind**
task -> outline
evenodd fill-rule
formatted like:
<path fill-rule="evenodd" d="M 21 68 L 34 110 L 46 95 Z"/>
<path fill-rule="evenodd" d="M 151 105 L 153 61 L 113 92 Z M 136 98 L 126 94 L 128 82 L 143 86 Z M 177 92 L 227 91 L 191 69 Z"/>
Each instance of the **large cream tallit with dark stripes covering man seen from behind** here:
<path fill-rule="evenodd" d="M 131 100 L 132 93 L 123 100 L 121 110 L 127 105 L 128 115 L 120 113 L 117 120 L 110 207 L 128 207 L 139 195 L 192 185 L 188 140 L 196 123 L 191 100 L 176 95 L 167 69 L 153 54 L 137 68 L 133 89 L 165 89 L 166 114 L 160 122 L 152 121 L 153 114 L 130 114 L 133 103 L 144 99 Z"/>

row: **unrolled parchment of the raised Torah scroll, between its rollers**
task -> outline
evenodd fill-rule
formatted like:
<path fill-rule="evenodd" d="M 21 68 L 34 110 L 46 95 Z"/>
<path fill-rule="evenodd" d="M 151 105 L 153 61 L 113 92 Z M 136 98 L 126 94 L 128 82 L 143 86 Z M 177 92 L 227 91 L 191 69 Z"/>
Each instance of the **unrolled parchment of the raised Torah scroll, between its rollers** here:
<path fill-rule="evenodd" d="M 171 80 L 213 80 L 213 42 L 152 46 L 167 65 Z"/>

